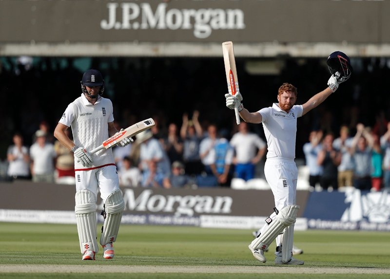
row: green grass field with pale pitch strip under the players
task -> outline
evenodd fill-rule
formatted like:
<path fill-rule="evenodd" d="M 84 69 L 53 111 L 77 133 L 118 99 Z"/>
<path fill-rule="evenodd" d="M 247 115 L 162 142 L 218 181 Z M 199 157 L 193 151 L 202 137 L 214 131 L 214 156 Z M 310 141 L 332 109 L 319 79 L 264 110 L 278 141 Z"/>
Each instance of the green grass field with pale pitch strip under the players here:
<path fill-rule="evenodd" d="M 95 261 L 81 260 L 76 225 L 0 223 L 0 236 L 0 279 L 390 277 L 389 232 L 297 231 L 303 266 L 255 260 L 250 230 L 122 225 L 115 259 Z"/>

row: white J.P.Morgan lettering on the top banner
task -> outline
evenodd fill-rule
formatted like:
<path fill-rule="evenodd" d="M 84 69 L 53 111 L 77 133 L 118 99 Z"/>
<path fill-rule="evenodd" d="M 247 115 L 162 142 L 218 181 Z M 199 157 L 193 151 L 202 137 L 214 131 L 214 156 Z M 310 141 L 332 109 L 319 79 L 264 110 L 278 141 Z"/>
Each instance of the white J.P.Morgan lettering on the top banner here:
<path fill-rule="evenodd" d="M 240 9 L 168 9 L 159 3 L 155 10 L 149 3 L 107 3 L 108 18 L 100 27 L 110 29 L 193 30 L 196 38 L 207 38 L 213 30 L 245 28 L 244 12 Z"/>

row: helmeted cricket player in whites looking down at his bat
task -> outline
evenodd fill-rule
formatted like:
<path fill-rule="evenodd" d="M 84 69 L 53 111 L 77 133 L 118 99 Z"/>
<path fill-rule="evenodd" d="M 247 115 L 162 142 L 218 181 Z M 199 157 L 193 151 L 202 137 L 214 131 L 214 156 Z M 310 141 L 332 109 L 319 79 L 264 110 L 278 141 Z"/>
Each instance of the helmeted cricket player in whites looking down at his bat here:
<path fill-rule="evenodd" d="M 81 96 L 70 103 L 54 130 L 54 136 L 74 152 L 76 195 L 75 213 L 82 260 L 95 260 L 98 253 L 96 203 L 98 190 L 104 201 L 104 224 L 100 237 L 103 258 L 114 258 L 113 242 L 117 240 L 125 207 L 119 189 L 117 167 L 112 149 L 92 150 L 118 131 L 114 126 L 113 105 L 103 98 L 104 80 L 98 70 L 86 71 L 81 80 Z M 72 129 L 72 141 L 65 130 Z M 123 139 L 124 147 L 132 140 Z"/>

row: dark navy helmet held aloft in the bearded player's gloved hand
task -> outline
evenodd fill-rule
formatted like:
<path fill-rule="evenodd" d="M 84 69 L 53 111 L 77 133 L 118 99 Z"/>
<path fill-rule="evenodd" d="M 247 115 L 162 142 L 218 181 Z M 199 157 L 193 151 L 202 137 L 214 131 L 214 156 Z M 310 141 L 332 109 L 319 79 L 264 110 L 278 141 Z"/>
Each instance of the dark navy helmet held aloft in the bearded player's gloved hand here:
<path fill-rule="evenodd" d="M 350 57 L 341 51 L 335 51 L 326 60 L 328 69 L 332 75 L 337 77 L 339 83 L 346 81 L 352 74 Z"/>

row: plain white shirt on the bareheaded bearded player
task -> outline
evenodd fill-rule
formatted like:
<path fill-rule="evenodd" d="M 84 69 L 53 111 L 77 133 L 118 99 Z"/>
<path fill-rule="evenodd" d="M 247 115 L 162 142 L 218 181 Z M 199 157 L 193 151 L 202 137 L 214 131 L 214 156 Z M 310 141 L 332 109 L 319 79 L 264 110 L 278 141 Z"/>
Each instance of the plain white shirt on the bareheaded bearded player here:
<path fill-rule="evenodd" d="M 295 105 L 290 112 L 279 108 L 277 103 L 260 111 L 267 139 L 267 158 L 279 157 L 294 160 L 296 142 L 296 120 L 302 116 L 303 107 Z"/>

